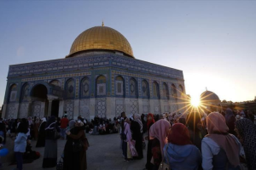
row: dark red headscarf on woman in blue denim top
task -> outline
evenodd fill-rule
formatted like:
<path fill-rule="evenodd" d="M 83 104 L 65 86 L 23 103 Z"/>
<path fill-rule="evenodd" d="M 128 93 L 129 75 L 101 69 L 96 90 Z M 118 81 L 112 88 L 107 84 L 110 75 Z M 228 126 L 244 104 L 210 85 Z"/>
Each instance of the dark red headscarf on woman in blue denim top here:
<path fill-rule="evenodd" d="M 182 123 L 175 123 L 168 135 L 168 142 L 177 145 L 192 144 L 189 129 Z"/>

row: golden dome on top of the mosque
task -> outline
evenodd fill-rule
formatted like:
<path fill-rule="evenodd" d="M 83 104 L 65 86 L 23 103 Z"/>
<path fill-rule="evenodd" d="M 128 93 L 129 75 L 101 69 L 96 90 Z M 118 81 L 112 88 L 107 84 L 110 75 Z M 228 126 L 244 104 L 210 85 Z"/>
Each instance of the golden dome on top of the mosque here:
<path fill-rule="evenodd" d="M 82 32 L 73 42 L 70 54 L 67 57 L 77 52 L 97 49 L 119 51 L 134 58 L 131 45 L 127 39 L 119 31 L 103 25 Z"/>

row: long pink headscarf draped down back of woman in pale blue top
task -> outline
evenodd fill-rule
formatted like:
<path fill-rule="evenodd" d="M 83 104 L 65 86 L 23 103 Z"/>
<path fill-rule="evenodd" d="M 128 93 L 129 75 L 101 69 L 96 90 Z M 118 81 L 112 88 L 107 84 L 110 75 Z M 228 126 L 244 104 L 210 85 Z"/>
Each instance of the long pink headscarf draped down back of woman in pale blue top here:
<path fill-rule="evenodd" d="M 207 137 L 216 142 L 223 149 L 230 161 L 230 164 L 237 167 L 239 161 L 239 145 L 236 144 L 235 137 L 231 136 L 225 118 L 218 112 L 212 112 L 207 116 Z"/>

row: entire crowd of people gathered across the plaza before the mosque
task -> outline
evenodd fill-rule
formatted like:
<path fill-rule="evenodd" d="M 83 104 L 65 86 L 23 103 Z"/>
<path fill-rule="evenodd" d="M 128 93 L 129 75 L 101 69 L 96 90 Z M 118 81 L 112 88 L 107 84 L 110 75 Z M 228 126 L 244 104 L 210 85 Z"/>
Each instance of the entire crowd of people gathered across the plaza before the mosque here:
<path fill-rule="evenodd" d="M 24 159 L 40 156 L 32 151 L 31 140 L 36 140 L 36 147 L 44 147 L 42 167 L 47 168 L 57 165 L 57 140 L 65 139 L 61 155 L 63 169 L 85 170 L 89 146 L 86 133 L 119 133 L 125 161 L 142 160 L 143 149 L 147 148 L 144 169 L 158 170 L 166 166 L 172 170 L 255 170 L 255 118 L 255 111 L 226 109 L 221 113 L 131 116 L 122 112 L 113 121 L 99 116 L 90 122 L 81 116 L 69 120 L 67 115 L 0 119 L 0 145 L 5 144 L 7 137 L 14 139 L 16 169 L 21 170 Z"/>

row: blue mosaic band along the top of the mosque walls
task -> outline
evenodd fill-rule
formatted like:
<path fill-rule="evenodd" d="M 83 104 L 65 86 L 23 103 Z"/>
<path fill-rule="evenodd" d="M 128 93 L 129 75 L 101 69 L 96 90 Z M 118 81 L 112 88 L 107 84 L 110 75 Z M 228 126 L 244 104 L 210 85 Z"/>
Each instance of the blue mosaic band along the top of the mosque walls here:
<path fill-rule="evenodd" d="M 56 71 L 67 71 L 67 70 L 77 70 L 82 68 L 87 68 L 90 66 L 122 66 L 123 68 L 132 69 L 133 71 L 143 71 L 150 74 L 159 74 L 165 77 L 178 78 L 183 80 L 183 71 L 178 71 L 176 69 L 168 68 L 161 65 L 154 65 L 146 61 L 138 59 L 130 59 L 128 57 L 120 56 L 118 54 L 98 54 L 88 56 L 86 54 L 78 54 L 78 57 L 68 58 L 68 59 L 55 59 L 48 61 L 41 61 L 36 63 L 20 64 L 20 65 L 10 65 L 9 66 L 9 77 L 19 76 L 19 75 L 29 75 L 32 73 L 44 73 L 56 72 Z M 79 57 L 84 56 L 84 57 Z M 102 64 L 101 64 L 102 63 Z M 80 73 L 77 73 L 80 74 Z M 64 76 L 67 77 L 67 76 Z M 72 76 L 71 76 L 72 77 Z M 76 76 L 78 77 L 78 76 Z M 59 78 L 59 77 L 55 77 Z M 55 79 L 47 78 L 47 79 Z M 43 78 L 42 80 L 44 80 Z M 27 82 L 32 80 L 25 80 L 22 82 Z"/>

